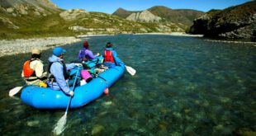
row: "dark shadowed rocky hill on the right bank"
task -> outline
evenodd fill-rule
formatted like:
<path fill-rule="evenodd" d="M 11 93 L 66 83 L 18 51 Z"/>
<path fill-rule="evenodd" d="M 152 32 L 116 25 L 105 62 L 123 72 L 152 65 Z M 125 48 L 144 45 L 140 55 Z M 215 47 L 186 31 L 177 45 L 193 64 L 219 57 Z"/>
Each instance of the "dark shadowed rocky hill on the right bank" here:
<path fill-rule="evenodd" d="M 197 18 L 189 32 L 207 37 L 255 40 L 256 1 L 224 10 L 211 10 Z"/>

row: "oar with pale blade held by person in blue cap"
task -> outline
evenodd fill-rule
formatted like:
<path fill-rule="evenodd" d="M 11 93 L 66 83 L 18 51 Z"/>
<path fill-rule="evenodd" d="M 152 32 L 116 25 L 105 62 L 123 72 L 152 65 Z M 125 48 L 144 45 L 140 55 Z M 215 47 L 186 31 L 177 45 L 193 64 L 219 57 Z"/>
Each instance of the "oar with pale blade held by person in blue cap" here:
<path fill-rule="evenodd" d="M 76 76 L 74 78 L 72 91 L 74 91 L 74 86 L 75 86 L 75 84 L 77 82 L 78 73 L 79 73 L 79 68 L 78 68 L 78 71 L 77 71 Z M 61 134 L 64 131 L 64 129 L 65 129 L 64 126 L 65 126 L 65 124 L 67 122 L 67 115 L 68 115 L 68 111 L 69 111 L 69 106 L 70 106 L 71 100 L 72 100 L 72 96 L 70 96 L 69 104 L 68 104 L 68 106 L 66 108 L 65 114 L 59 119 L 58 123 L 55 124 L 54 133 L 57 134 L 57 135 Z"/>

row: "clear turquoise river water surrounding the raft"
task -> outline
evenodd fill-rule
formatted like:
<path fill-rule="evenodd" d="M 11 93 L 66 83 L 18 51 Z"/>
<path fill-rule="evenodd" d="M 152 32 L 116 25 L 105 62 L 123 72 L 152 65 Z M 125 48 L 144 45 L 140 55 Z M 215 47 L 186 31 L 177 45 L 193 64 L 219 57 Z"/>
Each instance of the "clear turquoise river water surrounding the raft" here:
<path fill-rule="evenodd" d="M 170 35 L 89 39 L 94 53 L 111 41 L 125 73 L 88 106 L 69 110 L 63 135 L 232 135 L 256 131 L 256 47 Z M 66 62 L 82 43 L 65 45 Z M 47 62 L 51 49 L 43 52 Z M 0 134 L 53 135 L 64 110 L 36 110 L 8 96 L 21 86 L 30 54 L 0 58 Z"/>

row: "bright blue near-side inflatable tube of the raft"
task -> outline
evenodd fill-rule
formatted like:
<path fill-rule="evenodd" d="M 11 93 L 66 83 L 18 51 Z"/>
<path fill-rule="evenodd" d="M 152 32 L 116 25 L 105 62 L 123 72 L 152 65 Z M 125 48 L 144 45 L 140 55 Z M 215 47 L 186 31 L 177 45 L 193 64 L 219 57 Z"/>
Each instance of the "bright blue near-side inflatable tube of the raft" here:
<path fill-rule="evenodd" d="M 78 108 L 88 104 L 102 95 L 124 73 L 125 66 L 116 66 L 100 73 L 91 82 L 75 87 L 70 108 Z M 63 91 L 55 91 L 50 87 L 29 86 L 22 90 L 21 100 L 37 109 L 64 109 L 68 106 L 70 96 Z"/>

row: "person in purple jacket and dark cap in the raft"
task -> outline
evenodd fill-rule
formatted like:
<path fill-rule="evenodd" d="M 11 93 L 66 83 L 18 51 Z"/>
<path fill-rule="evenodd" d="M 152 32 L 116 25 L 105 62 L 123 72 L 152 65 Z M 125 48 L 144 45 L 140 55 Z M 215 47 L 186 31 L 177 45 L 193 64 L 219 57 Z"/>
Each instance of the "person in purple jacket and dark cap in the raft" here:
<path fill-rule="evenodd" d="M 95 58 L 97 58 L 97 56 L 100 55 L 99 53 L 97 53 L 96 55 L 92 54 L 92 51 L 89 49 L 89 46 L 90 45 L 89 45 L 88 41 L 85 40 L 83 42 L 83 49 L 81 49 L 78 54 L 78 59 L 80 62 L 95 59 Z"/>

